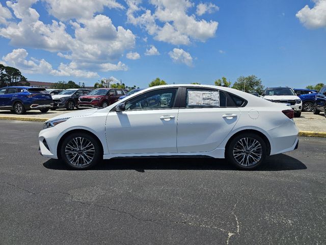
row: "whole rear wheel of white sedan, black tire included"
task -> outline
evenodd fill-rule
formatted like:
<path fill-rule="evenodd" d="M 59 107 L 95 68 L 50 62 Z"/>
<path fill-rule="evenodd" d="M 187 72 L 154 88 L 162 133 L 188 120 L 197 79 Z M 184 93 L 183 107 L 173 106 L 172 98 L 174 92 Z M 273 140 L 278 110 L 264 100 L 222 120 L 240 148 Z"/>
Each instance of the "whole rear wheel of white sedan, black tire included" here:
<path fill-rule="evenodd" d="M 245 149 L 246 144 L 244 144 L 243 142 L 245 142 L 246 139 L 248 139 L 247 141 L 248 146 L 253 147 L 251 146 L 251 144 L 254 143 L 254 147 L 259 147 L 259 148 L 254 149 L 254 151 Z M 242 148 L 239 142 L 243 143 L 244 145 L 243 150 L 238 150 Z M 227 160 L 241 170 L 256 169 L 263 163 L 266 156 L 267 156 L 267 145 L 265 141 L 259 135 L 254 133 L 242 133 L 235 136 L 234 138 L 231 139 L 226 149 Z M 255 161 L 253 160 L 254 158 L 256 159 Z M 247 164 L 247 161 L 249 164 Z M 249 161 L 252 161 L 252 163 L 250 163 Z"/>

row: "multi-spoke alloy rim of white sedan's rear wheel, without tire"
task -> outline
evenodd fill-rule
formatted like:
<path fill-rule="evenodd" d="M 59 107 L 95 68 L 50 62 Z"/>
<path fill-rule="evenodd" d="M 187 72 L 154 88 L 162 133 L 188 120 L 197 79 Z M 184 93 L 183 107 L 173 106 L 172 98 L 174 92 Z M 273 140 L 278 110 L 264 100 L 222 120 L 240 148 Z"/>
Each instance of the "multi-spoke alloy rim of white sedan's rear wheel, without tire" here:
<path fill-rule="evenodd" d="M 233 157 L 242 166 L 253 166 L 262 158 L 263 149 L 260 142 L 254 138 L 239 139 L 233 148 Z"/>

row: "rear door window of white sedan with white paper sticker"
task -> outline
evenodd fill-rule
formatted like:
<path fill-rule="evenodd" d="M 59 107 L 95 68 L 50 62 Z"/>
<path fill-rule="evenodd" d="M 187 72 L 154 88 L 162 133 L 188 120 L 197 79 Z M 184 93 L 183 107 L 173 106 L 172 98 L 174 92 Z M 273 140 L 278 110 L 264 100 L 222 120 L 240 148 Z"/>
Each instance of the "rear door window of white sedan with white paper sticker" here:
<path fill-rule="evenodd" d="M 220 107 L 226 105 L 226 96 L 219 90 L 189 88 L 186 92 L 186 107 Z"/>

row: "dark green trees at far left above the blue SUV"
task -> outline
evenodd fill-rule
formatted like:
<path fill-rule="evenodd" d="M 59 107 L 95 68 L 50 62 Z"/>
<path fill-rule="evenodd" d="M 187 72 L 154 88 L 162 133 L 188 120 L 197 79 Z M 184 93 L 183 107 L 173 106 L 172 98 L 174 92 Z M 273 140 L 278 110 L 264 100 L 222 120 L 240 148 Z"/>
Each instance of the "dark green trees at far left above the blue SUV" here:
<path fill-rule="evenodd" d="M 28 84 L 27 79 L 22 76 L 20 70 L 4 66 L 0 64 L 0 85 L 4 86 L 17 86 L 17 85 L 26 85 Z"/>

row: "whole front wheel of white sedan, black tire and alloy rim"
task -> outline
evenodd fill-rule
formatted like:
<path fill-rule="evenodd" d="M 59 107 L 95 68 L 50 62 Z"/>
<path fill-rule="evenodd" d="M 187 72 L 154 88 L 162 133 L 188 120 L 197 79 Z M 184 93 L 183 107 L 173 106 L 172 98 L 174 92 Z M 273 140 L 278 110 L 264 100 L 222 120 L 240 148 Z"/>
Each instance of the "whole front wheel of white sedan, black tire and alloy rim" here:
<path fill-rule="evenodd" d="M 73 133 L 61 144 L 61 158 L 71 168 L 88 169 L 102 159 L 99 142 L 87 133 Z"/>

